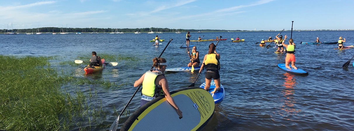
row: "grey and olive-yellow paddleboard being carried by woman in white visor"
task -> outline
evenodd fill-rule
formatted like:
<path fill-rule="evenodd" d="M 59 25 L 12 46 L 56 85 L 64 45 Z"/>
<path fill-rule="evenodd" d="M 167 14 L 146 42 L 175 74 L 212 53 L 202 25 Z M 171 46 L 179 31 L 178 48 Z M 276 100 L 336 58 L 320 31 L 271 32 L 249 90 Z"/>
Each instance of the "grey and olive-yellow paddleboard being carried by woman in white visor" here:
<path fill-rule="evenodd" d="M 195 131 L 209 121 L 215 110 L 210 93 L 198 87 L 188 87 L 171 92 L 173 100 L 183 112 L 183 118 L 166 101 L 164 96 L 136 110 L 122 125 L 120 131 Z"/>

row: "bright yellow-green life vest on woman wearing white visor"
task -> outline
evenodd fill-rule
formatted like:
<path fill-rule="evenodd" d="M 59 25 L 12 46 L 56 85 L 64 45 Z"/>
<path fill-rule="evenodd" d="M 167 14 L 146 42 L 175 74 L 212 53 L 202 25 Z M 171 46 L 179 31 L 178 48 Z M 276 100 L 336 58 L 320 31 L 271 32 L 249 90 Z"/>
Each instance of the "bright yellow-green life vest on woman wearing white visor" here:
<path fill-rule="evenodd" d="M 164 95 L 162 87 L 155 85 L 155 79 L 158 75 L 162 73 L 147 71 L 143 80 L 143 89 L 141 93 L 149 97 L 158 97 Z"/>

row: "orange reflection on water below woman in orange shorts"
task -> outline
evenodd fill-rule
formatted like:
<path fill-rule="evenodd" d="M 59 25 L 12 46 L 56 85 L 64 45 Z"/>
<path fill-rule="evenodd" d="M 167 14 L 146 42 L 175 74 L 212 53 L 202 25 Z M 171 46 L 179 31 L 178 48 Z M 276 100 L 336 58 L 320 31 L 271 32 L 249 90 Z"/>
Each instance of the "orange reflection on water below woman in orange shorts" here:
<path fill-rule="evenodd" d="M 286 76 L 285 81 L 284 81 L 284 89 L 281 91 L 281 94 L 284 95 L 285 99 L 282 99 L 284 101 L 284 105 L 280 107 L 281 110 L 284 110 L 285 112 L 279 112 L 280 115 L 284 116 L 285 119 L 287 120 L 293 120 L 291 119 L 292 115 L 297 115 L 298 112 L 301 112 L 301 110 L 297 110 L 294 106 L 296 104 L 296 98 L 294 96 L 295 94 L 295 89 L 297 83 L 296 79 L 294 78 L 294 74 L 290 73 L 284 73 L 284 76 Z"/>

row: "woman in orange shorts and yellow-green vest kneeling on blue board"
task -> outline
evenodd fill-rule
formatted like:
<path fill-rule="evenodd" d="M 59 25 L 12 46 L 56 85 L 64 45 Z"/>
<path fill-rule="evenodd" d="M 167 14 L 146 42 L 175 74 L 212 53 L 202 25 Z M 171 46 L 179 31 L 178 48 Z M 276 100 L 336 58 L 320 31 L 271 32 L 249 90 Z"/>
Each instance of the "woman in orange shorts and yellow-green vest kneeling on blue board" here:
<path fill-rule="evenodd" d="M 289 39 L 289 45 L 284 44 L 284 41 L 286 40 L 287 36 L 285 35 L 284 40 L 282 41 L 282 46 L 285 46 L 286 48 L 286 57 L 285 57 L 285 67 L 288 69 L 291 69 L 289 64 L 291 62 L 291 67 L 296 69 L 295 67 L 295 43 L 293 39 Z"/>

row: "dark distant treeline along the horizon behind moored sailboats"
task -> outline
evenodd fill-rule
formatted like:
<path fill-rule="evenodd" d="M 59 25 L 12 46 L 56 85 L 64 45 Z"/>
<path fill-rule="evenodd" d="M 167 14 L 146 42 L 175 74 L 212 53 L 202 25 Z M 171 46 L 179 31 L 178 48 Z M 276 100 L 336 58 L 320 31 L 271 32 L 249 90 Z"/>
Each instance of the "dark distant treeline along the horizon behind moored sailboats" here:
<path fill-rule="evenodd" d="M 159 32 L 176 32 L 176 29 L 169 28 L 151 28 L 153 32 L 156 32 L 158 29 Z M 37 28 L 33 29 L 13 29 L 12 32 L 17 33 L 25 33 L 25 32 L 36 32 Z M 60 32 L 61 28 L 57 27 L 42 27 L 39 28 L 39 32 Z M 112 28 L 63 28 L 64 32 L 115 32 L 115 29 Z M 136 29 L 117 29 L 118 32 L 149 32 L 150 28 L 136 28 Z M 7 29 L 0 30 L 1 33 L 11 32 L 11 30 L 7 31 Z M 198 32 L 196 29 L 178 29 L 179 32 Z M 200 30 L 202 32 L 242 32 L 248 30 L 212 30 L 212 29 L 204 29 Z"/>

